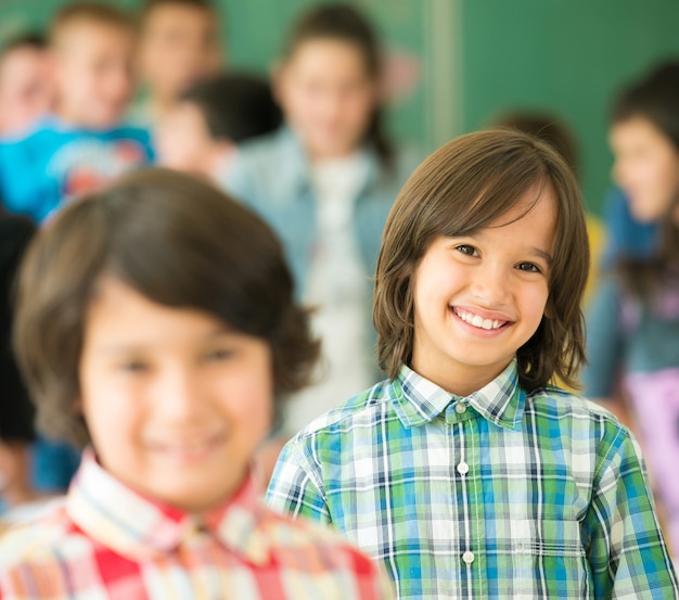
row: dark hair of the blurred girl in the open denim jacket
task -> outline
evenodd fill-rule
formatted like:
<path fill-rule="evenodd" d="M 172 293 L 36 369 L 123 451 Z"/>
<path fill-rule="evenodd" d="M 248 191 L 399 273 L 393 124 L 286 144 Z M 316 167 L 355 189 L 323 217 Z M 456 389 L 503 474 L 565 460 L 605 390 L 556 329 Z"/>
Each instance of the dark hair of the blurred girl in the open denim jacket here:
<path fill-rule="evenodd" d="M 290 59 L 305 42 L 317 39 L 336 39 L 353 44 L 363 56 L 369 76 L 375 81 L 380 79 L 382 59 L 377 36 L 370 22 L 350 4 L 324 4 L 305 13 L 287 36 L 284 59 Z M 384 132 L 379 104 L 373 108 L 364 141 L 374 145 L 383 166 L 390 168 L 394 149 Z"/>

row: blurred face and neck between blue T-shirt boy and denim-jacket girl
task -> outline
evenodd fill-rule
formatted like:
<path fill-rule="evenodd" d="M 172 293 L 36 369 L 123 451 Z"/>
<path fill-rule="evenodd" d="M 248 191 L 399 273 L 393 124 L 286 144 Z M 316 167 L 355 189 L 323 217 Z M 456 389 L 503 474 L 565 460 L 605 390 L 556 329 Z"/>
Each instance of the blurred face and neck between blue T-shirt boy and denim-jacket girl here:
<path fill-rule="evenodd" d="M 223 66 L 219 14 L 209 0 L 146 0 L 141 16 L 139 69 L 148 97 L 137 111 L 155 124 L 179 94 Z"/>

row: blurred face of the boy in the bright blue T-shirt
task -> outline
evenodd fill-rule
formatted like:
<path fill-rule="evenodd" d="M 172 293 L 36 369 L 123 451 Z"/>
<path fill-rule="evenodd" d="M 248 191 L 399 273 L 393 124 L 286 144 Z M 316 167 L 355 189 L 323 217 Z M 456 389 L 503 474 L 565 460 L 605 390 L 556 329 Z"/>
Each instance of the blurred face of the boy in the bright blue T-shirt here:
<path fill-rule="evenodd" d="M 72 24 L 55 49 L 57 113 L 73 125 L 116 126 L 133 90 L 133 36 L 123 27 Z"/>

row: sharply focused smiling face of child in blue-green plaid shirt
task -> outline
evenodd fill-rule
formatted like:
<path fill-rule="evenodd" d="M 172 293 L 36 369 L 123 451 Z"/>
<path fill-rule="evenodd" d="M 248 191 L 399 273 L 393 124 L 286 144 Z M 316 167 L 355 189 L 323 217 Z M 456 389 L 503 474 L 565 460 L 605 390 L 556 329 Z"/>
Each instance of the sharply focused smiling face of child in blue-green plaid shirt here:
<path fill-rule="evenodd" d="M 495 379 L 537 331 L 549 296 L 551 188 L 481 231 L 436 238 L 414 276 L 414 371 L 459 395 Z"/>

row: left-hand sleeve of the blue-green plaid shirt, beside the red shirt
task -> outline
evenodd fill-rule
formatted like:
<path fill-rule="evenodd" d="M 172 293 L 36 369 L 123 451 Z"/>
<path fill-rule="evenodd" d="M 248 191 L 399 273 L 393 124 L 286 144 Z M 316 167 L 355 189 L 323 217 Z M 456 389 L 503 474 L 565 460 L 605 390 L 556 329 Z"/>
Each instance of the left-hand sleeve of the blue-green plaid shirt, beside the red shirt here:
<path fill-rule="evenodd" d="M 293 519 L 303 516 L 330 524 L 330 511 L 323 494 L 318 469 L 312 468 L 306 454 L 305 438 L 291 439 L 279 456 L 267 490 L 269 507 Z"/>

